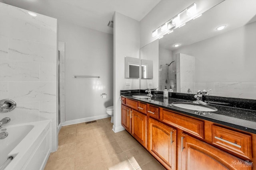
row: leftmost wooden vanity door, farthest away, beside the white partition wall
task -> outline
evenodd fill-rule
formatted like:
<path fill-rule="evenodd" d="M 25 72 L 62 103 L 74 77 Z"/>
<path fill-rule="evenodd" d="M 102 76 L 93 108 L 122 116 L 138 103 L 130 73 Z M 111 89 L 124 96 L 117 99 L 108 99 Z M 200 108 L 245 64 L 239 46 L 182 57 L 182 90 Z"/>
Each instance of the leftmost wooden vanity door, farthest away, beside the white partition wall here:
<path fill-rule="evenodd" d="M 124 105 L 121 106 L 121 109 L 121 124 L 126 131 L 131 133 L 131 109 Z"/>

